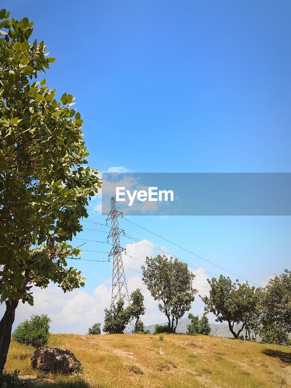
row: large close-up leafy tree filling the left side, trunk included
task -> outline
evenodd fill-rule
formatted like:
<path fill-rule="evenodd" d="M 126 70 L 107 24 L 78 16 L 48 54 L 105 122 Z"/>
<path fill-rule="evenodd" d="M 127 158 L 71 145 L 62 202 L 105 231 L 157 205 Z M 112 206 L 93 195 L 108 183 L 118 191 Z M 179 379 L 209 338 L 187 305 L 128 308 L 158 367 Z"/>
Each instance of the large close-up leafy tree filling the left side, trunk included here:
<path fill-rule="evenodd" d="M 66 263 L 80 249 L 66 241 L 82 230 L 88 199 L 101 187 L 97 170 L 83 167 L 88 153 L 73 96 L 58 102 L 56 90 L 38 81 L 55 59 L 43 42 L 29 43 L 32 26 L 0 11 L 0 375 L 15 309 L 20 300 L 33 304 L 31 287 L 84 285 Z"/>

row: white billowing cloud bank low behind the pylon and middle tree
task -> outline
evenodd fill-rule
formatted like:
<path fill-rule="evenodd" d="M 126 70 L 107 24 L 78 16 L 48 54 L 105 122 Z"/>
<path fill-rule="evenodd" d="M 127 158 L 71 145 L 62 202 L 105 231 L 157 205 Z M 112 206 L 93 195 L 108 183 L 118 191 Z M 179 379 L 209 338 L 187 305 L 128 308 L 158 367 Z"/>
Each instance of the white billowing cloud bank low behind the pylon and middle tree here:
<path fill-rule="evenodd" d="M 145 257 L 156 254 L 154 244 L 151 241 L 142 240 L 126 244 L 125 248 L 127 255 L 123 253 L 122 259 L 125 267 L 128 293 L 132 293 L 137 288 L 141 289 L 146 307 L 146 313 L 142 317 L 144 324 L 165 322 L 165 315 L 161 314 L 158 309 L 158 301 L 154 301 L 142 282 L 142 275 L 139 273 L 141 272 L 140 266 L 144 264 Z M 162 247 L 162 249 L 166 251 L 166 247 Z M 194 274 L 196 277 L 193 285 L 197 288 L 198 293 L 196 300 L 192 304 L 192 312 L 197 314 L 198 311 L 203 310 L 204 306 L 198 294 L 205 294 L 205 291 L 208 291 L 203 287 L 206 286 L 207 275 L 203 268 L 195 270 Z M 102 327 L 104 308 L 109 307 L 111 303 L 111 283 L 111 279 L 106 279 L 95 288 L 93 294 L 86 292 L 86 286 L 85 288 L 75 289 L 71 293 L 63 293 L 55 284 L 50 284 L 46 289 L 34 288 L 34 306 L 29 306 L 27 303 L 19 304 L 16 310 L 14 329 L 20 322 L 29 319 L 32 314 L 49 315 L 52 319 L 52 333 L 85 334 L 88 331 L 88 327 L 95 322 L 100 322 Z M 0 315 L 3 315 L 4 308 L 5 305 L 0 306 Z"/>

